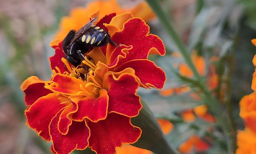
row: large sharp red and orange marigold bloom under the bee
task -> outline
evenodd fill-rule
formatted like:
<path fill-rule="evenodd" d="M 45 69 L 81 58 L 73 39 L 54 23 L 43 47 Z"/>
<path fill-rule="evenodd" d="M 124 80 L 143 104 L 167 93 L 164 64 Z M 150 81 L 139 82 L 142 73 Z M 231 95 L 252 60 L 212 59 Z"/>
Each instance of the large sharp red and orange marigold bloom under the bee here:
<path fill-rule="evenodd" d="M 95 16 L 99 12 L 90 15 Z M 119 46 L 94 48 L 75 68 L 64 58 L 60 42 L 50 57 L 50 80 L 31 76 L 21 85 L 27 124 L 52 142 L 53 153 L 90 147 L 97 154 L 114 154 L 116 147 L 135 143 L 142 133 L 130 122 L 142 108 L 137 89 L 164 86 L 164 71 L 147 58 L 164 55 L 165 47 L 149 34 L 145 21 L 131 13 L 112 13 L 96 26 L 107 30 Z"/>

